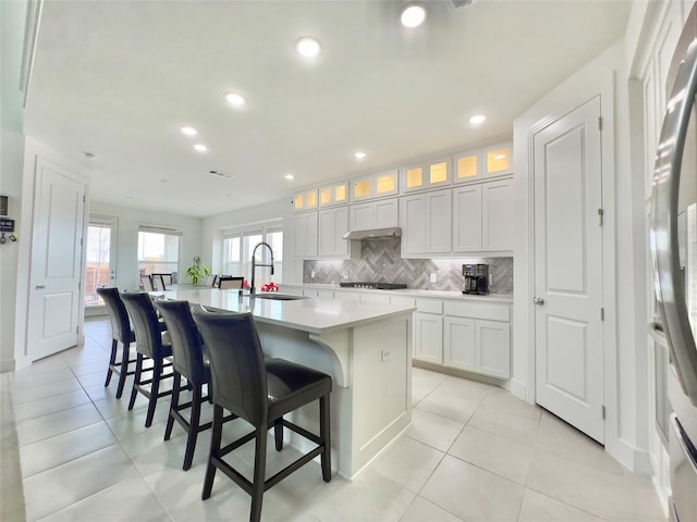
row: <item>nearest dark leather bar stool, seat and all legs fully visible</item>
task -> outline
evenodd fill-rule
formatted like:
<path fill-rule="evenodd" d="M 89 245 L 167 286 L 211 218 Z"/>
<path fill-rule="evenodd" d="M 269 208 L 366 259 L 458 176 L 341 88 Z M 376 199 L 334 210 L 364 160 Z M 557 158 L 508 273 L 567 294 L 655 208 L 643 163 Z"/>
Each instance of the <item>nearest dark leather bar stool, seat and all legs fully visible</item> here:
<path fill-rule="evenodd" d="M 249 520 L 261 517 L 264 492 L 320 456 L 322 478 L 331 481 L 329 401 L 331 377 L 283 359 L 265 361 L 250 313 L 211 313 L 196 306 L 194 322 L 210 357 L 213 391 L 213 425 L 210 453 L 201 497 L 210 497 L 216 470 L 222 471 L 252 497 Z M 302 406 L 319 400 L 319 436 L 283 418 Z M 221 446 L 223 409 L 244 419 L 253 431 Z M 283 447 L 283 427 L 314 443 L 310 451 L 266 477 L 267 432 L 274 428 L 276 449 Z M 235 470 L 223 457 L 255 440 L 253 478 Z"/>

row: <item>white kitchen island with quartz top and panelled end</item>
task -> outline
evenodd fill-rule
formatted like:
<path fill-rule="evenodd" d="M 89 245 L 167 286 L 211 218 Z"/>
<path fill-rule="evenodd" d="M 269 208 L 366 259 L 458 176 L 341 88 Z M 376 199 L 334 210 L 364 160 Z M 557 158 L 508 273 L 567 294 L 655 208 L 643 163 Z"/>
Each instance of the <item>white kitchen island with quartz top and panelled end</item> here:
<path fill-rule="evenodd" d="M 331 375 L 332 464 L 356 476 L 412 422 L 412 315 L 408 304 L 293 296 L 242 296 L 217 288 L 152 293 L 232 312 L 252 312 L 264 351 Z M 299 296 L 298 296 L 299 297 Z M 317 430 L 309 405 L 294 422 Z M 304 447 L 286 431 L 286 442 Z"/>

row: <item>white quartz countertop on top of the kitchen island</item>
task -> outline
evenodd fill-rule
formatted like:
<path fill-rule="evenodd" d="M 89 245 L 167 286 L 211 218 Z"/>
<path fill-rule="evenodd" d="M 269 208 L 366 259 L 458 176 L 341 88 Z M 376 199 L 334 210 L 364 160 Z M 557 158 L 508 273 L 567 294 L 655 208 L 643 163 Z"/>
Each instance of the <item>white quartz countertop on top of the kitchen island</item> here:
<path fill-rule="evenodd" d="M 343 301 L 339 299 L 306 298 L 297 300 L 240 298 L 239 290 L 218 288 L 184 289 L 173 291 L 154 291 L 152 296 L 168 299 L 184 299 L 204 307 L 229 310 L 231 312 L 252 312 L 255 321 L 277 324 L 321 334 L 328 330 L 341 330 L 392 318 L 414 311 L 406 304 L 382 304 L 372 302 Z"/>

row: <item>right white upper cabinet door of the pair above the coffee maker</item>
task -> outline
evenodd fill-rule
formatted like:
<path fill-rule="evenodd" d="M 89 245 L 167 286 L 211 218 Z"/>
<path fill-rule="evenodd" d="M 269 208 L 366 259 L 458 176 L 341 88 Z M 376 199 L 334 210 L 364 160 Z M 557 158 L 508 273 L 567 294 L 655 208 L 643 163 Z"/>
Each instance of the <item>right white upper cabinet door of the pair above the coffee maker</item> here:
<path fill-rule="evenodd" d="M 481 185 L 481 250 L 513 250 L 513 179 Z"/>

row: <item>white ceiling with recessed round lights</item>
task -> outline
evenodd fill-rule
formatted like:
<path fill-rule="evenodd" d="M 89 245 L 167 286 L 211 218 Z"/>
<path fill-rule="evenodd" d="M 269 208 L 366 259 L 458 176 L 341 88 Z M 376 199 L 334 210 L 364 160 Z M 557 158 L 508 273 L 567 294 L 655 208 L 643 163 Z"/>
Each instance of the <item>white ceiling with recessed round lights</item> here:
<path fill-rule="evenodd" d="M 290 204 L 326 179 L 510 136 L 517 114 L 624 34 L 631 7 L 432 0 L 426 24 L 405 29 L 404 3 L 46 1 L 25 133 L 97 154 L 95 201 L 192 216 Z M 323 46 L 314 61 L 293 51 L 308 35 Z M 228 91 L 247 104 L 232 108 Z M 475 113 L 488 115 L 477 128 Z"/>

